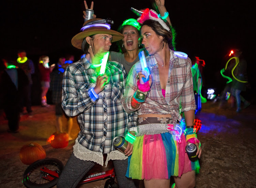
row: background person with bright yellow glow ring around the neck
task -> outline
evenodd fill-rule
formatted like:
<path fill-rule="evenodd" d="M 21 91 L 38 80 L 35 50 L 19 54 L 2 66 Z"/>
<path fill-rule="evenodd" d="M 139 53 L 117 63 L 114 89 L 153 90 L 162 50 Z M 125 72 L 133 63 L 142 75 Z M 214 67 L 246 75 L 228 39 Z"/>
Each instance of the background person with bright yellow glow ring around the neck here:
<path fill-rule="evenodd" d="M 31 75 L 35 72 L 35 67 L 33 62 L 28 59 L 27 53 L 25 50 L 18 50 L 18 58 L 15 62 L 15 66 L 21 68 L 25 74 L 28 76 L 29 85 L 24 88 L 24 95 L 20 107 L 20 112 L 23 113 L 23 106 L 26 106 L 27 113 L 29 117 L 32 116 L 32 108 L 31 108 L 31 88 L 32 88 L 32 78 Z"/>

